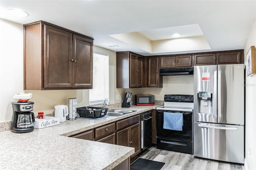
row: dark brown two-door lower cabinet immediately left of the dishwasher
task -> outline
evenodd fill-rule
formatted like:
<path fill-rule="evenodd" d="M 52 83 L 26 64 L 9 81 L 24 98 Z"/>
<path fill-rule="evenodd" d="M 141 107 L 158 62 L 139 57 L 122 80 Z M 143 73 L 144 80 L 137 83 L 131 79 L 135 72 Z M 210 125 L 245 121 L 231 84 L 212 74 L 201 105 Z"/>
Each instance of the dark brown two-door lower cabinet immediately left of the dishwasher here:
<path fill-rule="evenodd" d="M 135 148 L 131 157 L 140 153 L 140 123 L 116 132 L 116 144 Z"/>

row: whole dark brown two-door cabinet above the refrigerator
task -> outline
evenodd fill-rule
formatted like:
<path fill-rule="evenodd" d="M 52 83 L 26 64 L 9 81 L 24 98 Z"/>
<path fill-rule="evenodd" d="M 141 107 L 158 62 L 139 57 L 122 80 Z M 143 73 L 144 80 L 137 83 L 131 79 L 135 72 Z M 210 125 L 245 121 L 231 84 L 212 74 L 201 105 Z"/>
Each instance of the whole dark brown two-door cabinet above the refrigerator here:
<path fill-rule="evenodd" d="M 242 64 L 244 63 L 244 51 L 233 50 L 195 54 L 194 63 L 195 65 Z"/>

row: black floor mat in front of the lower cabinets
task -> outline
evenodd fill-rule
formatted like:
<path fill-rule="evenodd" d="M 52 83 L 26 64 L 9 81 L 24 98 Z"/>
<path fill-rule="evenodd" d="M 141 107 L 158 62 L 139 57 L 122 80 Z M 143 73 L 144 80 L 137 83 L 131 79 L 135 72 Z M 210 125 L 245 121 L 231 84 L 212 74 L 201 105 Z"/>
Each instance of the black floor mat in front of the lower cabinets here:
<path fill-rule="evenodd" d="M 164 162 L 138 158 L 130 165 L 130 170 L 160 170 L 164 164 Z"/>

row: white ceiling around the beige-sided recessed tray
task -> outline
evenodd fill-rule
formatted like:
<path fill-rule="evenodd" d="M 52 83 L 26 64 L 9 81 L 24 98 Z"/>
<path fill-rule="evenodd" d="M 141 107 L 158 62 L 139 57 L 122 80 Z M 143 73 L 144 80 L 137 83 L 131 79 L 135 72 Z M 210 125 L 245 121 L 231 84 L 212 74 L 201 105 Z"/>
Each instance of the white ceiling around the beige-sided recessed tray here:
<path fill-rule="evenodd" d="M 14 8 L 29 16 L 5 13 Z M 222 51 L 244 49 L 256 19 L 256 0 L 0 0 L 0 18 L 20 24 L 43 20 L 90 36 L 94 45 L 113 51 L 142 55 Z M 188 25 L 199 27 L 199 33 Z M 109 36 L 138 32 L 149 40 L 163 40 L 170 38 L 170 30 L 203 34 L 211 49 L 149 53 Z"/>

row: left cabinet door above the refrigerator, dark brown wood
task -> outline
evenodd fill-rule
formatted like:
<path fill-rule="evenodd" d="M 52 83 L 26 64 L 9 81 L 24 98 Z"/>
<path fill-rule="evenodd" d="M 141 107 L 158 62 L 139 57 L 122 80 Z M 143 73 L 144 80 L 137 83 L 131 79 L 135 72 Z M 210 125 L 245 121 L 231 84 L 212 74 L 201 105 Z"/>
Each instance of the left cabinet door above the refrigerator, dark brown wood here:
<path fill-rule="evenodd" d="M 212 54 L 195 54 L 194 65 L 216 65 L 216 53 Z"/>

